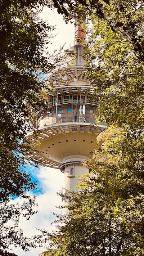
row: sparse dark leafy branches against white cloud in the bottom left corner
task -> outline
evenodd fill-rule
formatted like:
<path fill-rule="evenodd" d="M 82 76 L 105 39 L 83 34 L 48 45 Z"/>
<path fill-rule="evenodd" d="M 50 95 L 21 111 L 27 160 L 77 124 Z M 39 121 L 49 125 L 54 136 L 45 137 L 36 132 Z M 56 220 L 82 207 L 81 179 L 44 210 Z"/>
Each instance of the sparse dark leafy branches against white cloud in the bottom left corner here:
<path fill-rule="evenodd" d="M 0 206 L 0 255 L 16 256 L 14 253 L 7 251 L 10 246 L 21 247 L 23 250 L 28 251 L 30 247 L 35 247 L 32 239 L 24 237 L 23 231 L 19 228 L 19 218 L 21 216 L 26 217 L 27 220 L 30 216 L 36 214 L 37 211 L 33 210 L 33 206 L 37 206 L 35 203 L 35 197 L 27 197 L 27 201 L 22 205 L 19 203 L 1 203 Z"/>

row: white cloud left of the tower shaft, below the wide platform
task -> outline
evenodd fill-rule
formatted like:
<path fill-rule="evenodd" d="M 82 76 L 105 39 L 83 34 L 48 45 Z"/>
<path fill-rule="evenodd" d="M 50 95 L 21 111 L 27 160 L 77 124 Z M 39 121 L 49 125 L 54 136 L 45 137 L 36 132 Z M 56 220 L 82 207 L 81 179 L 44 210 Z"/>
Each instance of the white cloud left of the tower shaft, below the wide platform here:
<path fill-rule="evenodd" d="M 36 170 L 33 169 L 35 173 Z M 36 202 L 38 203 L 38 214 L 31 217 L 29 221 L 21 217 L 20 228 L 22 228 L 26 237 L 32 237 L 33 235 L 40 234 L 36 229 L 51 230 L 54 226 L 51 223 L 54 221 L 55 216 L 53 212 L 60 213 L 60 210 L 56 207 L 62 205 L 60 196 L 57 195 L 62 188 L 63 174 L 59 170 L 41 167 L 37 170 L 36 178 L 39 180 L 39 187 L 43 188 L 42 194 L 37 196 Z M 20 202 L 20 199 L 15 199 L 15 202 Z M 44 251 L 44 248 L 32 248 L 30 251 L 25 252 L 21 248 L 13 248 L 12 252 L 21 256 L 37 256 Z"/>

